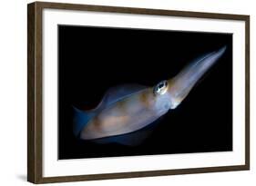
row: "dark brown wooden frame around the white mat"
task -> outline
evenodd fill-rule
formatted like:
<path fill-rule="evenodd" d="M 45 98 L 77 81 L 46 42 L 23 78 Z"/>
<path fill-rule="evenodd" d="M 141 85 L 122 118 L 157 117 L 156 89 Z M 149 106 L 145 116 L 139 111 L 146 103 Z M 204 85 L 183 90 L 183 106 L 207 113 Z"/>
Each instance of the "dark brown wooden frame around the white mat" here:
<path fill-rule="evenodd" d="M 220 166 L 208 168 L 163 170 L 163 171 L 136 171 L 93 175 L 69 175 L 62 177 L 43 177 L 43 147 L 42 147 L 42 11 L 45 8 L 66 9 L 77 11 L 95 11 L 108 13 L 124 13 L 139 15 L 169 15 L 183 17 L 198 17 L 210 19 L 240 20 L 245 22 L 245 164 L 235 166 Z M 36 2 L 27 6 L 27 181 L 34 183 L 60 181 L 91 181 L 103 179 L 119 179 L 146 176 L 163 176 L 175 174 L 202 173 L 214 171 L 241 171 L 250 169 L 250 16 L 226 15 L 198 12 L 183 12 L 158 9 L 141 9 L 129 7 L 74 5 Z"/>

